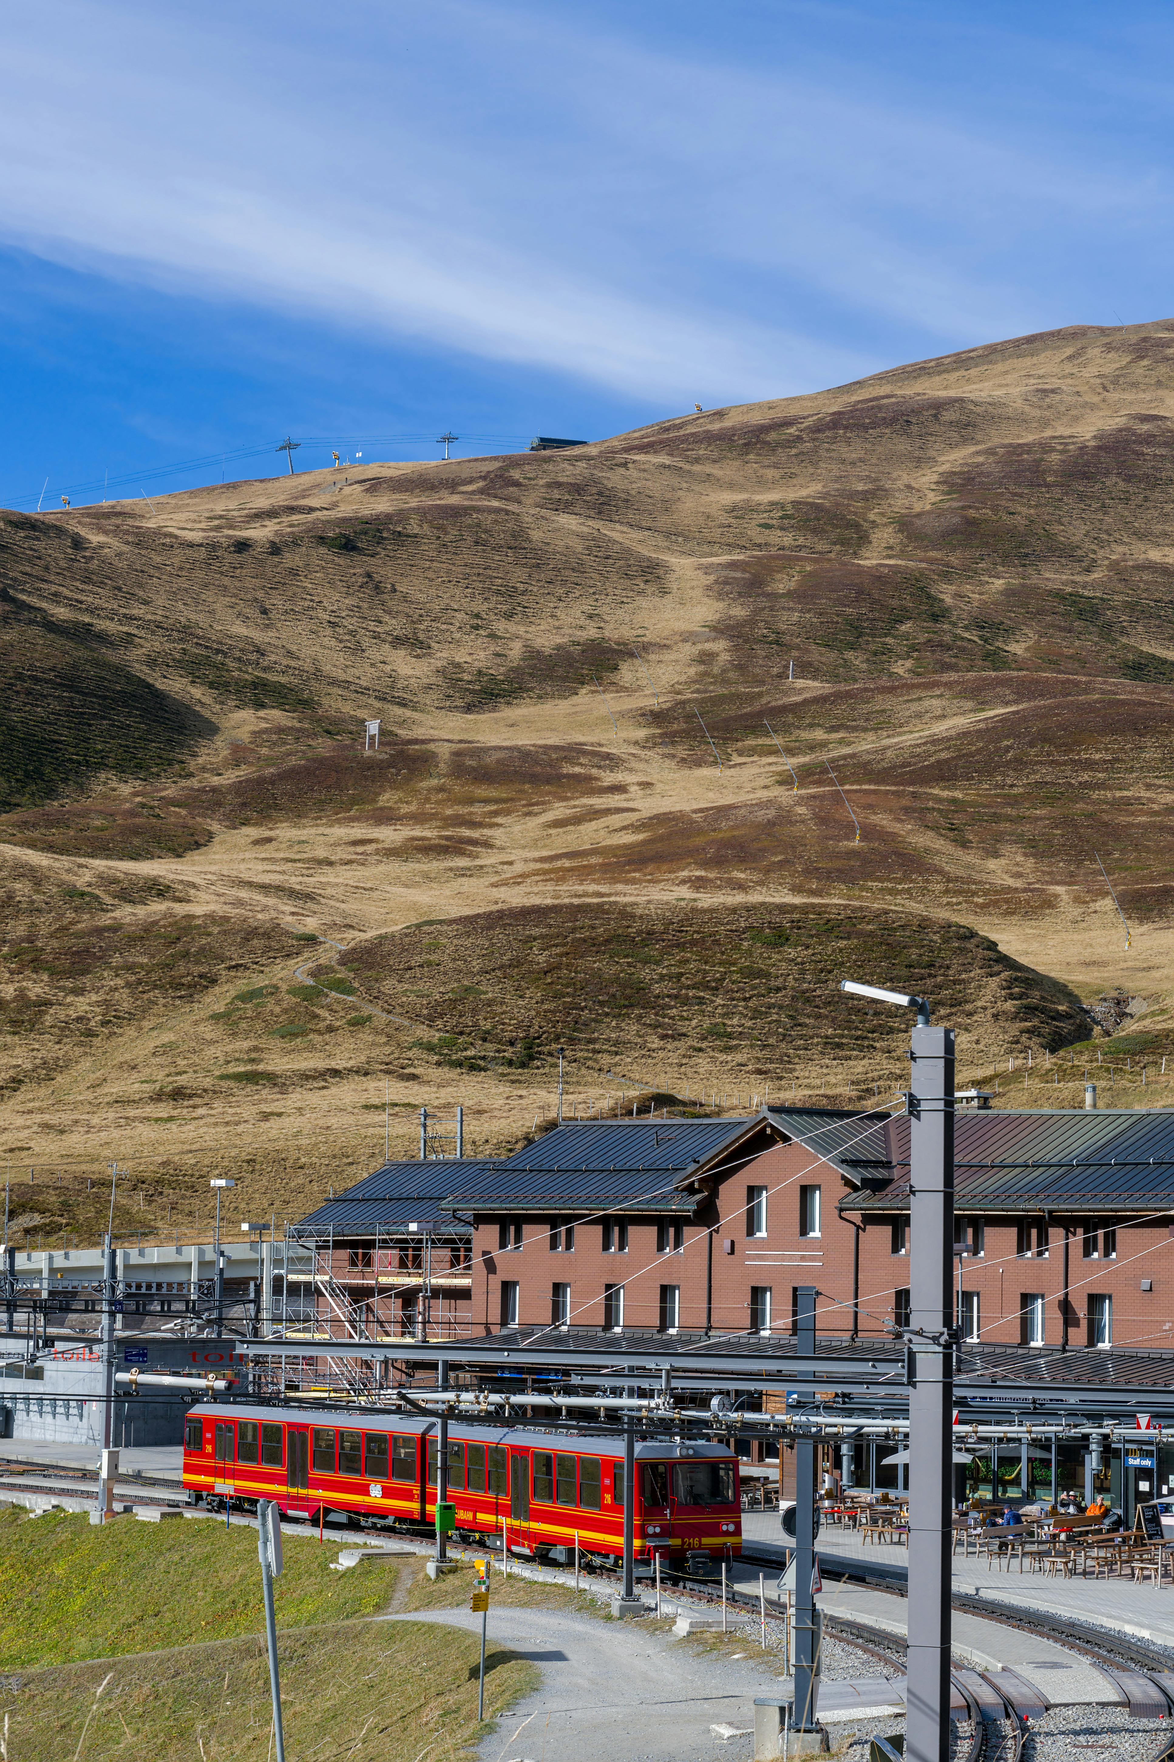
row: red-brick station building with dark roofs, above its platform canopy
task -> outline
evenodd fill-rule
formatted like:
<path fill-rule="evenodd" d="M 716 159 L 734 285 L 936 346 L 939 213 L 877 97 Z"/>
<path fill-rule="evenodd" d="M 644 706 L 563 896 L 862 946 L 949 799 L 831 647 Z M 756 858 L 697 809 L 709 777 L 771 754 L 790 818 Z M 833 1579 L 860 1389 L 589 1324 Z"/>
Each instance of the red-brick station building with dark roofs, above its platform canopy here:
<path fill-rule="evenodd" d="M 1174 1346 L 1174 1115 L 957 1114 L 964 1339 Z M 471 1329 L 887 1339 L 908 1306 L 904 1115 L 559 1126 L 497 1165 L 446 1165 L 471 1226 Z"/>

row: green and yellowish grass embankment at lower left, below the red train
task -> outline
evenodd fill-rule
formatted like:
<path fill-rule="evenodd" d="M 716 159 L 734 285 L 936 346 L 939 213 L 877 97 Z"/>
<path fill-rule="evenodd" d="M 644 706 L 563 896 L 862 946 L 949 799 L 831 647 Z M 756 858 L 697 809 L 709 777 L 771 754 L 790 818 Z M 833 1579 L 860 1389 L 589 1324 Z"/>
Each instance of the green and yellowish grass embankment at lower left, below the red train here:
<path fill-rule="evenodd" d="M 420 1556 L 331 1572 L 333 1547 L 291 1538 L 275 1586 L 291 1757 L 432 1762 L 479 1736 L 474 1633 L 363 1619 L 391 1603 L 467 1607 L 471 1568 L 439 1584 Z M 573 1602 L 520 1579 L 495 1603 Z M 11 1762 L 266 1757 L 268 1658 L 256 1531 L 0 1514 L 0 1714 Z M 148 1649 L 150 1647 L 150 1649 Z M 501 1646 L 487 1716 L 536 1683 Z M 88 1725 L 86 1725 L 88 1720 Z"/>

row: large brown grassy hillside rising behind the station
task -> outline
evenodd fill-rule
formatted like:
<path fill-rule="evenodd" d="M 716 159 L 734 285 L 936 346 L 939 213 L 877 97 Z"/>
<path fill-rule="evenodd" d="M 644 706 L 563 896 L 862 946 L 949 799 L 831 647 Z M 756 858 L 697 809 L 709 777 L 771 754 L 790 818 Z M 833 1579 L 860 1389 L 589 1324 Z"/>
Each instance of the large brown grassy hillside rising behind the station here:
<path fill-rule="evenodd" d="M 476 1034 L 516 1038 L 511 950 L 571 906 L 585 969 L 608 913 L 790 911 L 804 941 L 834 906 L 892 927 L 871 955 L 890 978 L 961 920 L 1084 997 L 1158 1003 L 1170 351 L 1174 322 L 1074 328 L 569 453 L 0 516 L 7 1149 L 175 1144 L 178 1181 L 247 1142 L 270 1193 L 289 1129 L 328 1184 L 374 1154 L 384 1073 L 508 1142 L 548 1110 L 546 1054 L 476 1070 Z M 388 1024 L 386 932 L 425 918 L 464 922 L 457 953 Z M 312 932 L 363 946 L 367 1022 L 289 994 Z M 721 997 L 698 974 L 703 1003 L 603 1011 L 583 1092 L 620 1054 L 672 1062 L 709 1015 L 730 1029 L 705 1036 L 710 1091 L 888 1082 L 888 1052 L 851 1066 L 839 1017 L 802 1047 L 760 1020 L 739 966 Z M 940 955 L 927 971 L 954 996 Z M 543 1048 L 566 1010 L 545 997 Z M 1058 1020 L 996 1011 L 975 1057 L 1082 1033 Z"/>

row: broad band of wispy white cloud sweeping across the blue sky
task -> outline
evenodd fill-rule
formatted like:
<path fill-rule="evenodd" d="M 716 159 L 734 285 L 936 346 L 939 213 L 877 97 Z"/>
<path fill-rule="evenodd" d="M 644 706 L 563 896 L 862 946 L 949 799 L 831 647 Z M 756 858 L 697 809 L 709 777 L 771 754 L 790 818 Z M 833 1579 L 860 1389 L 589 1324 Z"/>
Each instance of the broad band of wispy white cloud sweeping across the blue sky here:
<path fill-rule="evenodd" d="M 42 0 L 5 37 L 9 243 L 649 398 L 1063 322 L 1077 241 L 1169 201 L 1056 122 L 996 137 L 846 58 L 710 62 L 589 12 Z"/>

